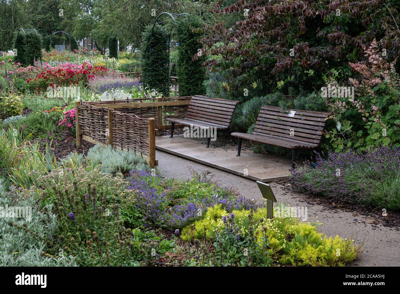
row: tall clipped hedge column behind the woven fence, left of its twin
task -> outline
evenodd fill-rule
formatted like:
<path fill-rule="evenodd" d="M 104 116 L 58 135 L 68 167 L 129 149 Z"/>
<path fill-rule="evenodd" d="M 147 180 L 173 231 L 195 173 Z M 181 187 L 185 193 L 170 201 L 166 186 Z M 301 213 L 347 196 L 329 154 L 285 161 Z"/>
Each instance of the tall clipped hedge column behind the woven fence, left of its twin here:
<path fill-rule="evenodd" d="M 160 30 L 154 30 L 150 42 L 152 26 L 147 26 L 142 34 L 142 50 L 140 51 L 140 64 L 142 80 L 145 86 L 162 92 L 169 96 L 169 56 L 168 38 Z M 151 57 L 149 53 L 152 47 Z"/>

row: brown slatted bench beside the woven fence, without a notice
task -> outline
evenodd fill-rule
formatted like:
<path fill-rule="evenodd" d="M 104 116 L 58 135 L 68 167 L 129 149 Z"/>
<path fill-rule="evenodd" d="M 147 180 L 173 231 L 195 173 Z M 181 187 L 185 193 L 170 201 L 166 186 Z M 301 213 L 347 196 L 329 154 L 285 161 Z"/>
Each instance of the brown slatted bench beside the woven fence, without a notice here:
<path fill-rule="evenodd" d="M 192 96 L 184 118 L 166 119 L 171 122 L 171 138 L 174 136 L 175 123 L 198 128 L 229 130 L 230 120 L 238 102 L 206 96 Z M 210 139 L 211 137 L 208 136 L 207 148 L 210 147 Z"/>

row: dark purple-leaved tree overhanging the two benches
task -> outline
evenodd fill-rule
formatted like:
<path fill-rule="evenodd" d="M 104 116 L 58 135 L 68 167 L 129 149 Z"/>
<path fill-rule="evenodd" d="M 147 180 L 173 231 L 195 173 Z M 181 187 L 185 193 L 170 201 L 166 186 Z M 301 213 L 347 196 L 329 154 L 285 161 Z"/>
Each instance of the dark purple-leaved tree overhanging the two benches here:
<path fill-rule="evenodd" d="M 399 5 L 396 0 L 240 0 L 217 13 L 248 10 L 245 20 L 231 28 L 223 22 L 206 26 L 201 42 L 213 57 L 204 65 L 229 70 L 236 87 L 303 80 L 312 89 L 332 71 L 345 81 L 352 75 L 348 61 L 364 58 L 361 44 L 376 38 L 388 61 L 398 56 Z"/>

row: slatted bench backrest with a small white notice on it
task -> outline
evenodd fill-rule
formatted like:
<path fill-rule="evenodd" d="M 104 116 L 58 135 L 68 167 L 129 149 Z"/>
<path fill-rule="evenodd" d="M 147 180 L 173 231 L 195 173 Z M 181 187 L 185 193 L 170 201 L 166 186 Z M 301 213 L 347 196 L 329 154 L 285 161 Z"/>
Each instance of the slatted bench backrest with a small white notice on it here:
<path fill-rule="evenodd" d="M 319 144 L 329 113 L 262 106 L 253 134 Z"/>

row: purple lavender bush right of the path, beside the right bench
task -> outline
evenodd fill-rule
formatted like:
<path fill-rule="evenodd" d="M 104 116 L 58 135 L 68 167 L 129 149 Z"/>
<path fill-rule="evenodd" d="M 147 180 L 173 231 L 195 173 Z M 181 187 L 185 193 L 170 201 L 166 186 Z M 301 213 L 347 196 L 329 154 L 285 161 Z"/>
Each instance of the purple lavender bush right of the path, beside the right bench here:
<path fill-rule="evenodd" d="M 291 183 L 300 191 L 346 201 L 400 210 L 400 148 L 362 152 L 316 153 L 316 166 L 292 170 Z M 312 166 L 315 166 L 313 168 Z"/>

